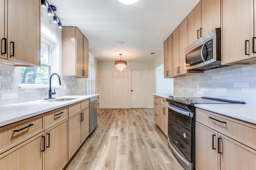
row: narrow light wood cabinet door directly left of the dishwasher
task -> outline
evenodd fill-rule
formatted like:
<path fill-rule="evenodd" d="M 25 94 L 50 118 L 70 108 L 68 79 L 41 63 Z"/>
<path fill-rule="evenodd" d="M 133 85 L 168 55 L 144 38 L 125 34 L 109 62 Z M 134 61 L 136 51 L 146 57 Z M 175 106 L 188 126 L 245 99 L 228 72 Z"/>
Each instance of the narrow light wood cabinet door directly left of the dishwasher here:
<path fill-rule="evenodd" d="M 90 134 L 90 107 L 82 110 L 81 113 L 81 143 L 83 143 L 86 137 L 88 137 L 88 135 Z"/>

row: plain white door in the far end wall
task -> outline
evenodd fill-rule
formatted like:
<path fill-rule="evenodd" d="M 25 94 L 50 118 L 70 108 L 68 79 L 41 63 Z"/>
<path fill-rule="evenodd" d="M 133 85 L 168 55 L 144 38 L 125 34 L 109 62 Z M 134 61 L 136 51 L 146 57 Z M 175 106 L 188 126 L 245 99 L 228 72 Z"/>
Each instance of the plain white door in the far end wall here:
<path fill-rule="evenodd" d="M 146 108 L 148 69 L 131 69 L 131 108 Z"/>

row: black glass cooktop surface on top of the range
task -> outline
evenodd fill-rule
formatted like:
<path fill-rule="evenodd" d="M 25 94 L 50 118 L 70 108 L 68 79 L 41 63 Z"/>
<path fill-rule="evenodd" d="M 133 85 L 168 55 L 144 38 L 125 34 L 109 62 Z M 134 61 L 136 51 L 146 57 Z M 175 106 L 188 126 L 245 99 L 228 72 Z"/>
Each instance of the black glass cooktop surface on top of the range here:
<path fill-rule="evenodd" d="M 225 100 L 225 99 L 218 99 L 218 98 L 208 98 L 208 97 L 201 97 L 201 98 L 173 98 L 170 96 L 166 98 L 168 103 L 178 102 L 181 104 L 186 105 L 194 105 L 194 104 L 245 104 L 244 102 L 238 102 L 234 100 Z"/>

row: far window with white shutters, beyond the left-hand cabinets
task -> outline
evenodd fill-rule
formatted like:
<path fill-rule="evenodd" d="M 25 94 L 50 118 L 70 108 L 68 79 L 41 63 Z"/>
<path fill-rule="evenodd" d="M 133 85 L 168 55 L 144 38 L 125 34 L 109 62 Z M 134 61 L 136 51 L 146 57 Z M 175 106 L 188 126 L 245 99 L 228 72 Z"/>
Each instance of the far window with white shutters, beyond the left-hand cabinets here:
<path fill-rule="evenodd" d="M 92 63 L 88 64 L 88 78 L 86 79 L 86 94 L 95 94 L 96 91 L 96 69 Z"/>

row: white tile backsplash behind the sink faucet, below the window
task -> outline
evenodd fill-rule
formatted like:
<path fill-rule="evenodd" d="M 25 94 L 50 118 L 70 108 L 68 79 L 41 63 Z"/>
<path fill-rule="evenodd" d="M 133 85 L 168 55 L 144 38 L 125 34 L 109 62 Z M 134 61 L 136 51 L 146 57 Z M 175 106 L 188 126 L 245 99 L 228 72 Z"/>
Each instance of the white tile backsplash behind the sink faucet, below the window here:
<path fill-rule="evenodd" d="M 56 95 L 78 94 L 78 80 L 72 76 L 60 76 L 61 86 L 55 88 Z M 48 98 L 49 86 L 20 86 L 21 68 L 0 65 L 0 106 Z M 52 88 L 52 89 L 53 89 Z"/>

